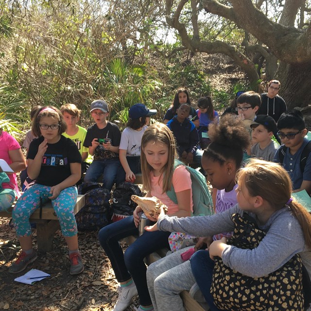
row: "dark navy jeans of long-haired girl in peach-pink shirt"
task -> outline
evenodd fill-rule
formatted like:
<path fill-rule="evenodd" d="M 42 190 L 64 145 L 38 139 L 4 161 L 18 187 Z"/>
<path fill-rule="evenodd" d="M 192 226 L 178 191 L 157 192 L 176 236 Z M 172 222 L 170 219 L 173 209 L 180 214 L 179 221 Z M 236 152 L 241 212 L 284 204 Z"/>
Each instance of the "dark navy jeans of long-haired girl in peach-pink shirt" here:
<path fill-rule="evenodd" d="M 119 282 L 133 278 L 137 287 L 139 302 L 142 306 L 151 305 L 148 292 L 144 258 L 163 247 L 169 247 L 168 237 L 171 232 L 145 231 L 128 246 L 123 254 L 119 241 L 131 235 L 138 235 L 133 216 L 126 217 L 99 231 L 98 238 L 106 255 L 109 257 L 115 276 Z"/>

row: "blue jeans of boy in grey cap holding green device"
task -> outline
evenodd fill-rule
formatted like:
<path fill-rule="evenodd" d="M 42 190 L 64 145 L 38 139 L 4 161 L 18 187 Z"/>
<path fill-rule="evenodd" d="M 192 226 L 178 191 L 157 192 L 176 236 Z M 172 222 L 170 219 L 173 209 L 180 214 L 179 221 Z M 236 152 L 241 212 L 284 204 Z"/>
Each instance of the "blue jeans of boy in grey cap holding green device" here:
<path fill-rule="evenodd" d="M 97 181 L 98 178 L 104 174 L 103 188 L 112 189 L 112 186 L 116 182 L 118 169 L 121 163 L 119 159 L 106 159 L 106 160 L 95 160 L 91 163 L 86 171 L 84 181 Z"/>

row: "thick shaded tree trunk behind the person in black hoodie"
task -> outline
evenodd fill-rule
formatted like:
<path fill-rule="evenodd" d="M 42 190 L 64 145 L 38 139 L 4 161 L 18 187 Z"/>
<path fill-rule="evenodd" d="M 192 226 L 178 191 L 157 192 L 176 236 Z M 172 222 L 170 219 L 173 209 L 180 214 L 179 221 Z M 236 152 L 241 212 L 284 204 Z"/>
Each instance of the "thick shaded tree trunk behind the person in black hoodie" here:
<path fill-rule="evenodd" d="M 280 96 L 284 98 L 289 110 L 311 104 L 310 77 L 310 64 L 279 64 L 276 79 L 281 82 Z"/>

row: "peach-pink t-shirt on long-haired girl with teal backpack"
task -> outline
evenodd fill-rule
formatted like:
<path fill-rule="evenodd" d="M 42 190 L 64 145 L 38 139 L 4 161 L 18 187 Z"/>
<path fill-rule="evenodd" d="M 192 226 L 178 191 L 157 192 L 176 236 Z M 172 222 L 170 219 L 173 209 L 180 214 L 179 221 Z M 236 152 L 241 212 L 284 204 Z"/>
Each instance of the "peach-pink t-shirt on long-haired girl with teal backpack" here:
<path fill-rule="evenodd" d="M 163 187 L 163 176 L 155 177 L 153 172 L 150 173 L 151 178 L 151 195 L 157 197 L 168 207 L 168 214 L 171 215 L 179 210 L 178 204 L 175 204 L 168 195 L 164 192 L 162 193 Z M 175 192 L 180 192 L 190 189 L 190 210 L 193 211 L 193 202 L 192 202 L 192 188 L 191 188 L 191 177 L 190 173 L 187 171 L 184 165 L 179 165 L 176 167 L 172 184 Z"/>

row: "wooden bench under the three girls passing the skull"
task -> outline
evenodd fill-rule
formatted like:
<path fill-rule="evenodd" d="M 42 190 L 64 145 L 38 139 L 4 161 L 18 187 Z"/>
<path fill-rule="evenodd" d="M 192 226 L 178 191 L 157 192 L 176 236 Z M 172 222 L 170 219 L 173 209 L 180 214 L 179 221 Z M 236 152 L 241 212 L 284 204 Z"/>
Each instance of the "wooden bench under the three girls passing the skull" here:
<path fill-rule="evenodd" d="M 132 244 L 135 240 L 136 240 L 136 237 L 134 236 L 130 236 L 130 237 L 123 239 L 123 241 L 126 242 L 128 245 Z M 165 257 L 168 251 L 169 249 L 163 248 L 148 255 L 145 258 L 145 263 L 149 265 L 155 262 L 156 260 Z M 190 297 L 189 291 L 182 291 L 180 293 L 180 296 L 183 300 L 184 308 L 186 309 L 186 311 L 208 311 L 209 310 L 207 303 L 200 303 L 194 300 L 192 297 Z"/>

